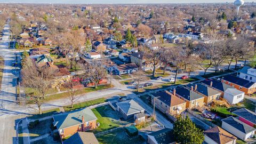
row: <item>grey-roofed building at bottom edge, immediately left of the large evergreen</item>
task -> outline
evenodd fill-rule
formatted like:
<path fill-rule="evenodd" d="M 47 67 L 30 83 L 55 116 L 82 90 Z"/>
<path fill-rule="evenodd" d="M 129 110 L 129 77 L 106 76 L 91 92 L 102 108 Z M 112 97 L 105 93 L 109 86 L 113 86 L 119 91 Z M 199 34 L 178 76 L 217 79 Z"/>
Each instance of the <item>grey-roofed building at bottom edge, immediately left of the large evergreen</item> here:
<path fill-rule="evenodd" d="M 169 143 L 169 144 L 174 144 L 175 139 L 174 135 L 172 132 L 172 129 L 162 129 L 153 133 L 148 134 L 148 140 L 147 142 L 149 144 L 161 144 L 161 143 Z"/>

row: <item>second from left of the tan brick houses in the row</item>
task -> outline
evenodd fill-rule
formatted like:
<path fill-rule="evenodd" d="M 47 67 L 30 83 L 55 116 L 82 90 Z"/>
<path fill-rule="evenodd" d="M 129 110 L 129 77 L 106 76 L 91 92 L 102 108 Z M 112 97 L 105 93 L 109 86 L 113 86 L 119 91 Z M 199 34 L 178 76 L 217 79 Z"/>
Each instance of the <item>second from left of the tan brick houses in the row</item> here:
<path fill-rule="evenodd" d="M 193 87 L 187 89 L 186 87 L 179 87 L 173 90 L 174 95 L 186 101 L 186 108 L 203 107 L 204 96 L 193 91 Z"/>

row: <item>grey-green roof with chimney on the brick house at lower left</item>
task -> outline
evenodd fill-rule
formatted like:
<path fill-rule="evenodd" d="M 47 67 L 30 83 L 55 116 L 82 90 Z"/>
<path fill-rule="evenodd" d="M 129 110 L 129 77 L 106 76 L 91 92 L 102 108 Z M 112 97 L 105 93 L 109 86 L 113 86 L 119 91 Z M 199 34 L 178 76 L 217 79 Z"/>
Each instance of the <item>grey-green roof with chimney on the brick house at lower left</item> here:
<path fill-rule="evenodd" d="M 57 126 L 58 130 L 65 129 L 66 127 L 82 124 L 82 116 L 84 116 L 84 122 L 90 122 L 97 120 L 92 110 L 87 108 L 77 109 L 69 111 L 67 113 L 62 113 L 54 115 L 54 125 Z"/>

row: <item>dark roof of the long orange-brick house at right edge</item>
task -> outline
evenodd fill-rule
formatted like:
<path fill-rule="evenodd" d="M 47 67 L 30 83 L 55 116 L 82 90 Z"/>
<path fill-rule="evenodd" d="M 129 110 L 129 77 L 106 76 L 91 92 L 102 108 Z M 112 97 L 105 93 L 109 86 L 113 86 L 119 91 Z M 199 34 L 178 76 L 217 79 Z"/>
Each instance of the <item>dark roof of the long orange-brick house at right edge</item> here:
<path fill-rule="evenodd" d="M 251 81 L 247 81 L 246 79 L 239 78 L 233 75 L 226 75 L 222 77 L 223 80 L 249 88 L 251 87 L 254 83 Z"/>

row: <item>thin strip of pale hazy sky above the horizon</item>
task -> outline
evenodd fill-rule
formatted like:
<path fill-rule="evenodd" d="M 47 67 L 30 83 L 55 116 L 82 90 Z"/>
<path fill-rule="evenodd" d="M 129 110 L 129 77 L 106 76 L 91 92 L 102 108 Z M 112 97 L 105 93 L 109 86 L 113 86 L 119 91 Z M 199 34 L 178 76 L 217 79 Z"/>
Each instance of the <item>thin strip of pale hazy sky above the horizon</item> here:
<path fill-rule="evenodd" d="M 225 3 L 229 0 L 0 0 L 0 3 L 70 3 L 70 4 L 116 4 L 116 3 Z M 245 0 L 256 2 L 256 0 Z"/>

